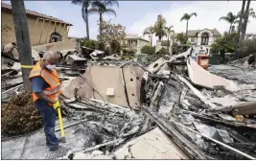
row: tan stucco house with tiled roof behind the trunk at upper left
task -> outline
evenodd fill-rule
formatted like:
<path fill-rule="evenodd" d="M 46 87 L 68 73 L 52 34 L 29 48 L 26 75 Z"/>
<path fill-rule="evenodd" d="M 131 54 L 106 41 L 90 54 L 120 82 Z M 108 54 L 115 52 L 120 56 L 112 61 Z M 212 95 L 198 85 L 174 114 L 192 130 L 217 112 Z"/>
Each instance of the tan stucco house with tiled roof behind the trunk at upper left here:
<path fill-rule="evenodd" d="M 2 25 L 11 27 L 11 31 L 2 32 L 2 44 L 16 42 L 12 6 L 6 3 L 1 5 Z M 26 10 L 30 38 L 32 45 L 39 45 L 53 41 L 65 40 L 72 24 L 38 12 Z"/>

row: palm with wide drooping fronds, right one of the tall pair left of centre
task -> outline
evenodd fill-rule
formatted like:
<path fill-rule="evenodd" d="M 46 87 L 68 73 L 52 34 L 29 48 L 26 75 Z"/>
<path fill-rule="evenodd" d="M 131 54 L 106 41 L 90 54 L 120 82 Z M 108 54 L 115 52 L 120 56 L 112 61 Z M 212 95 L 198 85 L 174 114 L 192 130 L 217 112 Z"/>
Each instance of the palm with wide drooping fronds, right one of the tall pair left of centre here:
<path fill-rule="evenodd" d="M 119 7 L 117 0 L 96 0 L 92 3 L 92 8 L 89 9 L 88 13 L 98 13 L 100 15 L 100 42 L 102 43 L 102 33 L 103 33 L 103 14 L 113 14 L 116 16 L 116 12 L 113 9 L 107 8 L 116 5 Z"/>

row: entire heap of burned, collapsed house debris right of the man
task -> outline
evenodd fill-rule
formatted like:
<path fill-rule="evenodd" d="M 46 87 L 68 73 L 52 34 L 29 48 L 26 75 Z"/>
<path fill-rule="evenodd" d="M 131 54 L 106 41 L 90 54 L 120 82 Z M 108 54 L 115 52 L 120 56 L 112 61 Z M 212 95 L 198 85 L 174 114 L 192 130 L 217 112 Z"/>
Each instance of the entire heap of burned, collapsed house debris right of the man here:
<path fill-rule="evenodd" d="M 255 159 L 255 82 L 211 74 L 193 52 L 149 66 L 101 51 L 90 63 L 61 55 L 61 108 L 76 122 L 64 128 L 74 127 L 76 147 L 54 159 Z"/>

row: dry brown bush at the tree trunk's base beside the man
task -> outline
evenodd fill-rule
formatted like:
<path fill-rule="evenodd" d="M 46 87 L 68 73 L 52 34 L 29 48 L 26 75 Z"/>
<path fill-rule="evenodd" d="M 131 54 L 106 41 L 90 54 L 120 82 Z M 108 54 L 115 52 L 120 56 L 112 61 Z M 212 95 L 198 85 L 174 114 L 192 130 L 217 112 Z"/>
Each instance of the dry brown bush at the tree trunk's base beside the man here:
<path fill-rule="evenodd" d="M 30 93 L 13 96 L 1 106 L 1 132 L 3 137 L 23 135 L 42 127 L 42 118 L 32 103 Z"/>

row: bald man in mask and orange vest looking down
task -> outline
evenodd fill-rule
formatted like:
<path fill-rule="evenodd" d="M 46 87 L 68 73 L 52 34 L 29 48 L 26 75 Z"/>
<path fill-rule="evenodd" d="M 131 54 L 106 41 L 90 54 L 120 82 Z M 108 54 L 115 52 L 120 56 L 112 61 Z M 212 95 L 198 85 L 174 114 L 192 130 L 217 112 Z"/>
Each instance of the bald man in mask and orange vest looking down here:
<path fill-rule="evenodd" d="M 41 61 L 35 64 L 30 73 L 33 102 L 43 119 L 46 145 L 49 150 L 58 150 L 58 139 L 55 134 L 57 112 L 53 106 L 59 104 L 60 82 L 56 71 L 58 54 L 47 51 Z"/>

